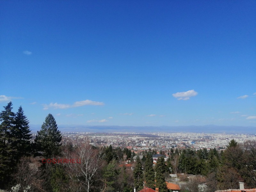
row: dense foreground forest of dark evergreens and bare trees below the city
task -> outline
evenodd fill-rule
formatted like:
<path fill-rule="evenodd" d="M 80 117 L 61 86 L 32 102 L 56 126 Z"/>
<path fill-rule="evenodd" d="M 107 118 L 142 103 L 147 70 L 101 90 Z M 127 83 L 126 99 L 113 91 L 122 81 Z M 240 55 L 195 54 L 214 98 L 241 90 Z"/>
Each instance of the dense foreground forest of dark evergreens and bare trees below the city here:
<path fill-rule="evenodd" d="M 4 191 L 132 192 L 147 186 L 167 192 L 165 181 L 172 181 L 171 173 L 184 181 L 182 192 L 235 189 L 239 181 L 245 188 L 256 187 L 255 140 L 242 144 L 231 140 L 221 152 L 215 148 L 160 151 L 169 158 L 165 161 L 160 157 L 154 164 L 156 150 L 135 154 L 111 145 L 95 147 L 88 138 L 62 142 L 52 114 L 46 116 L 34 142 L 30 142 L 29 121 L 22 107 L 17 113 L 12 109 L 9 102 L 0 113 L 0 189 Z M 197 176 L 188 180 L 182 178 L 185 174 Z"/>

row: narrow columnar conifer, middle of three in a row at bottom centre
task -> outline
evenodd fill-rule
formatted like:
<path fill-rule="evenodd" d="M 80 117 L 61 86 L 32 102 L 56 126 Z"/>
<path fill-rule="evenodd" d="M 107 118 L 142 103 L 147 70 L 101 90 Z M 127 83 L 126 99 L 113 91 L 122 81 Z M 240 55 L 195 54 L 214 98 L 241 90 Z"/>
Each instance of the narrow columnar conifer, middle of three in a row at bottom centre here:
<path fill-rule="evenodd" d="M 146 186 L 149 188 L 155 188 L 155 172 L 153 170 L 153 158 L 152 153 L 148 152 L 146 156 L 146 162 L 144 167 L 144 177 L 146 180 Z"/>

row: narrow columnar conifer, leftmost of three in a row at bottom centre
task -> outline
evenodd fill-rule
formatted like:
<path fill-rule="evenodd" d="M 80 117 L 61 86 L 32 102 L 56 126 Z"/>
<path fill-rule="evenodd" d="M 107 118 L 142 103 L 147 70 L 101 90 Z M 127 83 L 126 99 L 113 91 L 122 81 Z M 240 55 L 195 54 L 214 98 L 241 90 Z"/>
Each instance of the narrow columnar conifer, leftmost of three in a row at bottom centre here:
<path fill-rule="evenodd" d="M 143 188 L 143 170 L 139 156 L 136 158 L 136 164 L 133 170 L 133 178 L 136 191 L 140 191 Z"/>

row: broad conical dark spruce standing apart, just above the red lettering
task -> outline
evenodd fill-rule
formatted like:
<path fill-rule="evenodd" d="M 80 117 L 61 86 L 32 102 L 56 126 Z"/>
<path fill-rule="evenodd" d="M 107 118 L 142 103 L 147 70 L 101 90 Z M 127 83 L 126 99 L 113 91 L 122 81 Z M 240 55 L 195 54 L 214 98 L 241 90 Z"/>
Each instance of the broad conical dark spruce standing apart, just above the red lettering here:
<path fill-rule="evenodd" d="M 36 149 L 44 153 L 44 157 L 59 155 L 61 146 L 61 133 L 52 114 L 48 114 L 42 124 L 41 130 L 37 131 L 35 144 Z"/>

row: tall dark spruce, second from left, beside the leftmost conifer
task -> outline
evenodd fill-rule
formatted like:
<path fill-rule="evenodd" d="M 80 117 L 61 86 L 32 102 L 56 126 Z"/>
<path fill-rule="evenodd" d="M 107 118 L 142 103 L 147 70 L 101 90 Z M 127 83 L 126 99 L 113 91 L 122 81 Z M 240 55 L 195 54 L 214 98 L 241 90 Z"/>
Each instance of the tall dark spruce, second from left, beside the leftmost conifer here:
<path fill-rule="evenodd" d="M 30 153 L 30 139 L 32 138 L 32 134 L 29 134 L 30 129 L 28 123 L 29 121 L 20 106 L 14 118 L 14 128 L 11 131 L 14 136 L 12 147 L 19 152 L 16 156 L 17 160 L 19 160 L 21 156 L 25 156 Z"/>

